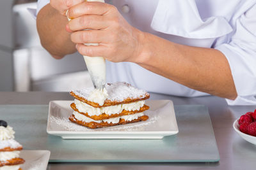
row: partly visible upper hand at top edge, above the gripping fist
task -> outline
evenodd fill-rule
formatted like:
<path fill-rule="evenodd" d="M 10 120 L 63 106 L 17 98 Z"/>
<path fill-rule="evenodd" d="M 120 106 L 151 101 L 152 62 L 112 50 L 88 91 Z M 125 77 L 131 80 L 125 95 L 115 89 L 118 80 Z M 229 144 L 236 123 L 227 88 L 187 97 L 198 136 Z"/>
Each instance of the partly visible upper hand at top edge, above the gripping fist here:
<path fill-rule="evenodd" d="M 61 15 L 66 15 L 66 11 L 76 4 L 83 3 L 84 0 L 51 0 L 50 4 L 53 8 L 58 10 Z"/>

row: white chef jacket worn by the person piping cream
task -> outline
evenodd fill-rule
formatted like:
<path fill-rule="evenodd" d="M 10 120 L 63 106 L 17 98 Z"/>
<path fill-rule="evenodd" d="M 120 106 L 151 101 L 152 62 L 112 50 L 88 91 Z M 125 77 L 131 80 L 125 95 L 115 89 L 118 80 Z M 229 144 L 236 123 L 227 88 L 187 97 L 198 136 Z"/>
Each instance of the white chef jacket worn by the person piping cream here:
<path fill-rule="evenodd" d="M 49 3 L 38 0 L 37 12 Z M 132 26 L 182 45 L 220 50 L 227 57 L 238 97 L 230 105 L 256 105 L 255 0 L 113 0 Z M 205 96 L 131 62 L 106 62 L 107 81 L 126 81 L 148 92 Z M 214 81 L 214 80 L 212 80 Z"/>

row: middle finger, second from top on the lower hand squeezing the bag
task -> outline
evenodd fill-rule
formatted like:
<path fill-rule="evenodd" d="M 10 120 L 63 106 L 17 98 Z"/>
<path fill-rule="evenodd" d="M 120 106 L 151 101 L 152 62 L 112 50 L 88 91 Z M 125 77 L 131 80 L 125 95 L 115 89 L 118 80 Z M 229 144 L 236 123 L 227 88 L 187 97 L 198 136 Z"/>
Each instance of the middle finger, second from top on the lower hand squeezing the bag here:
<path fill-rule="evenodd" d="M 70 31 L 79 31 L 83 29 L 106 29 L 108 20 L 104 20 L 102 15 L 83 15 L 74 18 L 68 22 Z"/>

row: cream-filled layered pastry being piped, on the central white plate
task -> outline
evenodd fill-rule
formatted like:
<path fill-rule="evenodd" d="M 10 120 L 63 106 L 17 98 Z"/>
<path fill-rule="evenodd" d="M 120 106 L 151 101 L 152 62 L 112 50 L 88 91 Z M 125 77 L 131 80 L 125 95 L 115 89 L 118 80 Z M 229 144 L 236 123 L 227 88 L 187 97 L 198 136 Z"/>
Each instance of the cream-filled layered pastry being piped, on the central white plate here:
<path fill-rule="evenodd" d="M 92 129 L 129 124 L 148 119 L 145 100 L 150 96 L 125 82 L 106 84 L 106 88 L 72 90 L 74 110 L 69 120 Z"/>

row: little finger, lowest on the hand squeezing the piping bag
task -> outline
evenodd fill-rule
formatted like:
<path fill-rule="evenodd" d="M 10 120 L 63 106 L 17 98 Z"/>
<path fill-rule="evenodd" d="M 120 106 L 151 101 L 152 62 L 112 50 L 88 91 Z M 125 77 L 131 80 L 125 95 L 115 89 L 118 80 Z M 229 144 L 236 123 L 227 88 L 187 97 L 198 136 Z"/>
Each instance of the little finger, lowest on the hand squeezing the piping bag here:
<path fill-rule="evenodd" d="M 90 56 L 90 57 L 102 57 L 106 55 L 107 47 L 103 45 L 99 46 L 86 46 L 83 44 L 76 45 L 77 51 L 81 55 Z"/>

